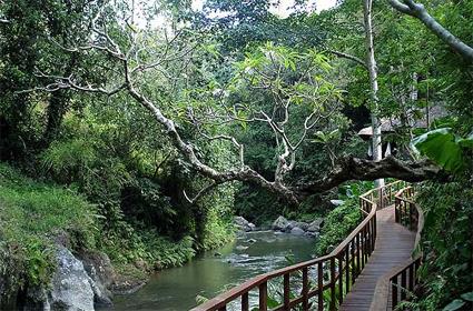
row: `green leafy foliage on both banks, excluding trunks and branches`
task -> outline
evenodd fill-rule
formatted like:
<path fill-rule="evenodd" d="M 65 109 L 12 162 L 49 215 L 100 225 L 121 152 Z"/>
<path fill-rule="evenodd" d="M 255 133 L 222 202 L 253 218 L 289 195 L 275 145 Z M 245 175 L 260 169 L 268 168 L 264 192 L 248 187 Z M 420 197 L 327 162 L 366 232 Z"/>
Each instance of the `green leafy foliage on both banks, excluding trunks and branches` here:
<path fill-rule="evenodd" d="M 183 161 L 152 116 L 129 96 L 18 92 L 52 82 L 39 81 L 33 74 L 38 69 L 71 74 L 83 86 L 121 82 L 121 63 L 116 66 L 109 56 L 66 53 L 50 43 L 50 38 L 68 47 L 97 39 L 89 36 L 88 28 L 101 1 L 86 2 L 90 1 L 0 2 L 0 18 L 11 21 L 1 22 L 0 28 L 0 159 L 17 162 L 39 180 L 73 189 L 37 183 L 0 165 L 0 221 L 4 223 L 0 229 L 4 264 L 0 269 L 16 267 L 16 271 L 26 271 L 28 282 L 47 282 L 53 269 L 50 239 L 61 231 L 77 249 L 105 250 L 122 271 L 129 267 L 164 269 L 183 264 L 196 250 L 231 239 L 235 211 L 257 223 L 278 214 L 311 220 L 324 213 L 327 198 L 314 195 L 294 210 L 273 193 L 238 183 L 219 187 L 189 204 L 183 191 L 197 193 L 209 181 Z M 339 1 L 338 7 L 322 14 L 299 10 L 303 1 L 296 1 L 296 13 L 284 20 L 269 11 L 273 1 L 268 0 L 210 0 L 205 12 L 216 14 L 208 18 L 191 12 L 191 1 L 158 2 L 145 6 L 146 19 L 161 10 L 180 33 L 176 40 L 164 39 L 159 31 L 117 22 L 117 17 L 132 10 L 121 1 L 110 3 L 100 23 L 107 24 L 124 50 L 129 40 L 122 27 L 128 24 L 137 34 L 144 48 L 129 60 L 131 66 L 138 59 L 151 60 L 151 52 L 162 60 L 171 59 L 156 70 L 137 70 L 134 84 L 175 121 L 181 138 L 203 162 L 225 170 L 235 168 L 238 161 L 234 146 L 208 142 L 196 128 L 237 138 L 245 144 L 246 164 L 272 180 L 275 154 L 282 147 L 267 123 L 255 126 L 248 119 L 259 111 L 276 116 L 280 109 L 274 108 L 285 102 L 290 114 L 285 133 L 290 141 L 298 141 L 307 114 L 326 114 L 309 130 L 309 140 L 300 144 L 296 167 L 285 177 L 288 185 L 321 178 L 341 157 L 364 156 L 366 143 L 353 131 L 369 122 L 366 70 L 321 52 L 333 49 L 364 59 L 359 1 Z M 380 109 L 373 112 L 400 120 L 401 127 L 388 139 L 406 151 L 403 148 L 413 133 L 420 132 L 413 129 L 413 122 L 422 112 L 434 104 L 446 109 L 452 130 L 423 134 L 415 146 L 446 170 L 462 177 L 471 174 L 472 137 L 460 139 L 454 134 L 465 137 L 473 126 L 471 66 L 417 20 L 394 13 L 387 1 L 374 2 Z M 442 24 L 473 43 L 472 1 L 422 2 Z M 418 91 L 417 100 L 411 96 L 413 90 Z M 214 119 L 190 118 L 190 112 L 197 117 L 230 114 L 238 122 L 216 124 Z M 275 124 L 283 122 L 276 119 Z M 471 270 L 464 239 L 471 235 L 466 224 L 471 221 L 471 192 L 464 189 L 471 188 L 467 182 L 445 188 L 431 184 L 425 193 L 435 189 L 441 194 L 421 195 L 427 210 L 424 281 L 428 290 L 418 305 L 425 310 L 449 303 L 453 305 L 450 308 L 461 303 L 462 308 L 470 307 L 471 295 L 463 285 L 471 284 L 464 273 Z M 328 214 L 318 253 L 327 252 L 356 227 L 361 219 L 357 195 L 368 185 L 349 183 L 341 189 L 345 203 Z M 452 217 L 450 222 L 447 215 Z M 13 279 L 21 282 L 18 273 L 11 274 Z"/>

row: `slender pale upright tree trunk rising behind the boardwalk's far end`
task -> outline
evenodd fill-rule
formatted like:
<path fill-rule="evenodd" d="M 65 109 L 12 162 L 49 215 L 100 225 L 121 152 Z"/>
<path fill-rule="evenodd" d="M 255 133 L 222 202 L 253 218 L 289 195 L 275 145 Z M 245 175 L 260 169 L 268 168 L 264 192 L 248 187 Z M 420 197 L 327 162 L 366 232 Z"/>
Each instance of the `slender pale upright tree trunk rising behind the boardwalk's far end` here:
<path fill-rule="evenodd" d="M 364 16 L 364 27 L 365 27 L 365 44 L 366 44 L 366 67 L 368 68 L 369 73 L 369 84 L 371 84 L 371 119 L 372 119 L 372 150 L 373 150 L 373 160 L 380 161 L 383 159 L 383 146 L 381 141 L 381 120 L 377 117 L 377 67 L 376 59 L 374 57 L 374 43 L 373 43 L 373 24 L 372 24 L 372 7 L 373 0 L 365 0 L 363 6 L 363 16 Z M 384 185 L 384 179 L 375 180 L 375 187 Z"/>

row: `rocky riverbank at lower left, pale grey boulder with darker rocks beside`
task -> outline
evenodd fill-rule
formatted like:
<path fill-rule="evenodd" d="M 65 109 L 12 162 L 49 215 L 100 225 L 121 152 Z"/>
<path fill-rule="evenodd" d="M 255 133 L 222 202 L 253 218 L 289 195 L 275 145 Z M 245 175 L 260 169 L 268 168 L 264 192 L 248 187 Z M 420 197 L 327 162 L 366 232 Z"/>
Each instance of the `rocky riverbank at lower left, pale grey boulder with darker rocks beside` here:
<path fill-rule="evenodd" d="M 56 270 L 48 287 L 26 284 L 0 310 L 61 310 L 93 311 L 111 307 L 114 294 L 130 293 L 145 284 L 144 280 L 124 279 L 118 275 L 107 254 L 87 251 L 79 254 L 57 245 Z M 0 297 L 4 280 L 0 278 Z"/>

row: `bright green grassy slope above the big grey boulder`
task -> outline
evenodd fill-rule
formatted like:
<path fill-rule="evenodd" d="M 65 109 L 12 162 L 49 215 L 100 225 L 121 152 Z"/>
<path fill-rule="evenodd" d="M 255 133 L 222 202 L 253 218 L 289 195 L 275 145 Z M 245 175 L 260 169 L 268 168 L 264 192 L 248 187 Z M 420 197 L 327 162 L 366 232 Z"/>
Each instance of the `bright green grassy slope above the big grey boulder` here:
<path fill-rule="evenodd" d="M 0 275 L 7 294 L 19 287 L 48 284 L 55 269 L 55 239 L 93 248 L 93 205 L 73 191 L 35 182 L 0 164 Z"/>

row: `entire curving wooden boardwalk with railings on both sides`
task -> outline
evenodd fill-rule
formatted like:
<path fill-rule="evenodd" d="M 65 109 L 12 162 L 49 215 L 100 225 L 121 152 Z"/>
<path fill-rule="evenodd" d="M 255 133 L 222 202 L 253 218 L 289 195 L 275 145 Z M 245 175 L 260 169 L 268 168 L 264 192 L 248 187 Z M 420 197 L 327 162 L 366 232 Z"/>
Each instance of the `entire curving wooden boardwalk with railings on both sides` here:
<path fill-rule="evenodd" d="M 423 225 L 423 213 L 414 199 L 414 188 L 402 181 L 363 193 L 359 195 L 359 209 L 366 217 L 331 253 L 256 275 L 191 311 L 225 311 L 230 303 L 239 304 L 242 311 L 255 307 L 267 311 L 268 283 L 282 281 L 283 301 L 273 307 L 274 311 L 295 308 L 307 311 L 323 311 L 327 308 L 348 311 L 392 310 L 391 305 L 397 305 L 407 298 L 406 290 L 414 289 L 421 264 L 420 257 L 411 260 L 420 235 L 407 229 L 418 231 Z M 388 207 L 376 210 L 384 205 Z M 356 275 L 359 269 L 362 271 Z M 309 282 L 309 270 L 316 272 L 315 287 Z M 294 274 L 302 277 L 302 288 L 292 288 Z M 353 280 L 355 283 L 344 297 L 346 283 Z M 405 290 L 401 291 L 400 288 Z M 250 303 L 252 291 L 258 292 L 257 302 Z M 343 301 L 339 308 L 337 301 Z"/>

